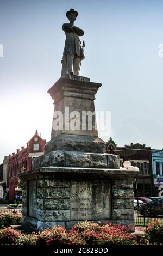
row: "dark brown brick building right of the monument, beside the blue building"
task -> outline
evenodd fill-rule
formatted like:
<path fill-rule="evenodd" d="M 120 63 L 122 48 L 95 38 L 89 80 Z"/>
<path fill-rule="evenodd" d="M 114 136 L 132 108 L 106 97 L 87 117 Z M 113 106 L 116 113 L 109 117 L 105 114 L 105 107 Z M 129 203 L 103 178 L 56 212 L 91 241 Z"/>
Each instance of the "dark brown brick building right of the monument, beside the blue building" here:
<path fill-rule="evenodd" d="M 151 147 L 146 147 L 145 144 L 141 145 L 139 143 L 117 147 L 116 143 L 110 138 L 106 142 L 106 153 L 119 155 L 122 167 L 123 162 L 126 160 L 131 162 L 131 166 L 137 166 L 140 170 L 140 174 L 136 176 L 139 196 L 153 196 Z M 134 194 L 136 194 L 135 180 Z"/>

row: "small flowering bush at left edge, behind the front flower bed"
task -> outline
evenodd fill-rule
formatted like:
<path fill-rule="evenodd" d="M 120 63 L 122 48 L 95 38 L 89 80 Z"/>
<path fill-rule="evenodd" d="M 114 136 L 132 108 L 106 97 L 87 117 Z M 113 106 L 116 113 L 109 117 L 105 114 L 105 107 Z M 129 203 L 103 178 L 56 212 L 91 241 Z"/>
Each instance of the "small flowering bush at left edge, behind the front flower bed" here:
<path fill-rule="evenodd" d="M 0 228 L 9 227 L 10 225 L 21 225 L 22 214 L 13 214 L 10 212 L 0 213 Z"/>

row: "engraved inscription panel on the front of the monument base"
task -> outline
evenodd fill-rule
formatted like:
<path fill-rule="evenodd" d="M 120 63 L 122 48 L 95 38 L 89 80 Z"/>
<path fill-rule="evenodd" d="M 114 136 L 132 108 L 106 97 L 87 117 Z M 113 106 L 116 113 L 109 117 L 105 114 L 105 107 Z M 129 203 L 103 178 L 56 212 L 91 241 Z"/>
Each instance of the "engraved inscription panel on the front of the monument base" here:
<path fill-rule="evenodd" d="M 71 182 L 71 220 L 108 220 L 111 218 L 110 203 L 108 180 Z"/>

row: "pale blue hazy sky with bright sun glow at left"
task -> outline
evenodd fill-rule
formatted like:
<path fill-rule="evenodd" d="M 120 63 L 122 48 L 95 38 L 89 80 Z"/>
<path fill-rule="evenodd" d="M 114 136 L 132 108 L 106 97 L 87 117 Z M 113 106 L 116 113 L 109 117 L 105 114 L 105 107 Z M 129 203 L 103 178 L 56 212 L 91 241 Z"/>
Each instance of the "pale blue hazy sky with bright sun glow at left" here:
<path fill-rule="evenodd" d="M 111 111 L 111 134 L 102 138 L 163 148 L 163 1 L 0 0 L 0 163 L 36 129 L 50 139 L 47 90 L 60 78 L 70 8 L 85 31 L 80 75 L 102 83 L 96 110 Z"/>

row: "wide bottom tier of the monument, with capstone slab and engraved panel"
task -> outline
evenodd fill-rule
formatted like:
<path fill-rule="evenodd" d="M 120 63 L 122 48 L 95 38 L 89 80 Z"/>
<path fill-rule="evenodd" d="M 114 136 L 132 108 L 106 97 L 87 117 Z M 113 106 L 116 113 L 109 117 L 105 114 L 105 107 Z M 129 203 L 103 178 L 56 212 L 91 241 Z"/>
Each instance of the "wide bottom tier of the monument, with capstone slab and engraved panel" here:
<path fill-rule="evenodd" d="M 109 168 L 42 167 L 21 173 L 24 228 L 41 231 L 79 221 L 129 225 L 134 231 L 136 171 Z"/>

